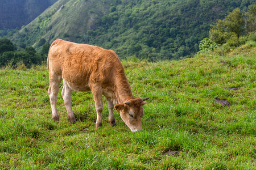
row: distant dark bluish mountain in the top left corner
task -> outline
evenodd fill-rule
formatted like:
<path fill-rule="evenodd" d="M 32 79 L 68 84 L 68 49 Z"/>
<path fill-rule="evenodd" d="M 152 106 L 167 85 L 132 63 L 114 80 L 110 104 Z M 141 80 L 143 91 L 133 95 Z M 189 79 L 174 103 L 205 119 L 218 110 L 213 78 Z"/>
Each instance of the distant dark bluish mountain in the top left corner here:
<path fill-rule="evenodd" d="M 57 0 L 1 0 L 0 29 L 27 25 Z"/>

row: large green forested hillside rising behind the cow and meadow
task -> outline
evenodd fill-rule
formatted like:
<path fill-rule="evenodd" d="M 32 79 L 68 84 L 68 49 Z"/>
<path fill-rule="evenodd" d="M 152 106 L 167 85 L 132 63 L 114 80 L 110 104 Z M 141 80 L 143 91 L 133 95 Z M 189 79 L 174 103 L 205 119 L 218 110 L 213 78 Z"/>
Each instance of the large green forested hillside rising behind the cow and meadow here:
<path fill-rule="evenodd" d="M 18 46 L 40 48 L 56 38 L 113 49 L 120 58 L 172 59 L 199 50 L 210 24 L 253 0 L 59 0 L 8 37 Z"/>

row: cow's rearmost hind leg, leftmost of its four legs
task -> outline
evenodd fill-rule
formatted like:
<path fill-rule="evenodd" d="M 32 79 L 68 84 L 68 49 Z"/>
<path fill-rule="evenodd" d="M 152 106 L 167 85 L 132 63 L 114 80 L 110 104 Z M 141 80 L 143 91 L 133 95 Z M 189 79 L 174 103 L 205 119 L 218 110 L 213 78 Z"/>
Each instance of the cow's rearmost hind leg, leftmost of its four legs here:
<path fill-rule="evenodd" d="M 52 118 L 54 121 L 59 121 L 59 115 L 57 113 L 57 96 L 59 93 L 59 86 L 61 82 L 61 76 L 56 75 L 53 71 L 49 71 L 49 88 L 48 95 L 51 102 Z"/>

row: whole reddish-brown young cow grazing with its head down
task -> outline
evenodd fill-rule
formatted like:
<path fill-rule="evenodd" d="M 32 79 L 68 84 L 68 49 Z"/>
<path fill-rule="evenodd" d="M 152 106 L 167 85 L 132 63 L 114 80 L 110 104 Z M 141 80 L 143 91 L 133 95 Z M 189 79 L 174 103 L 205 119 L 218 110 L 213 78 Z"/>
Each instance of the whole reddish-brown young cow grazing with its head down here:
<path fill-rule="evenodd" d="M 95 102 L 96 127 L 102 126 L 102 95 L 106 97 L 109 107 L 109 123 L 115 125 L 113 108 L 131 131 L 142 130 L 142 106 L 145 99 L 135 99 L 125 76 L 122 63 L 117 54 L 98 46 L 76 44 L 57 39 L 52 42 L 47 58 L 49 70 L 48 95 L 51 101 L 52 118 L 59 121 L 56 101 L 60 82 L 63 79 L 64 104 L 71 124 L 75 116 L 71 107 L 72 91 L 92 91 Z"/>

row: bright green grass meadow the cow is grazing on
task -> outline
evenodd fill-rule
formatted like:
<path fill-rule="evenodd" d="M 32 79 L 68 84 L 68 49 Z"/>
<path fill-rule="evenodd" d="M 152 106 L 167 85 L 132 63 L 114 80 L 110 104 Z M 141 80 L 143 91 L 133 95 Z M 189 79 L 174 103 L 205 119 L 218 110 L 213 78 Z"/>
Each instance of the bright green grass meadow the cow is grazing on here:
<path fill-rule="evenodd" d="M 133 95 L 150 97 L 138 133 L 117 112 L 117 126 L 109 125 L 106 100 L 96 129 L 91 92 L 73 92 L 75 125 L 59 93 L 60 122 L 53 122 L 46 66 L 1 69 L 0 169 L 255 169 L 255 42 L 223 51 L 122 61 Z"/>

